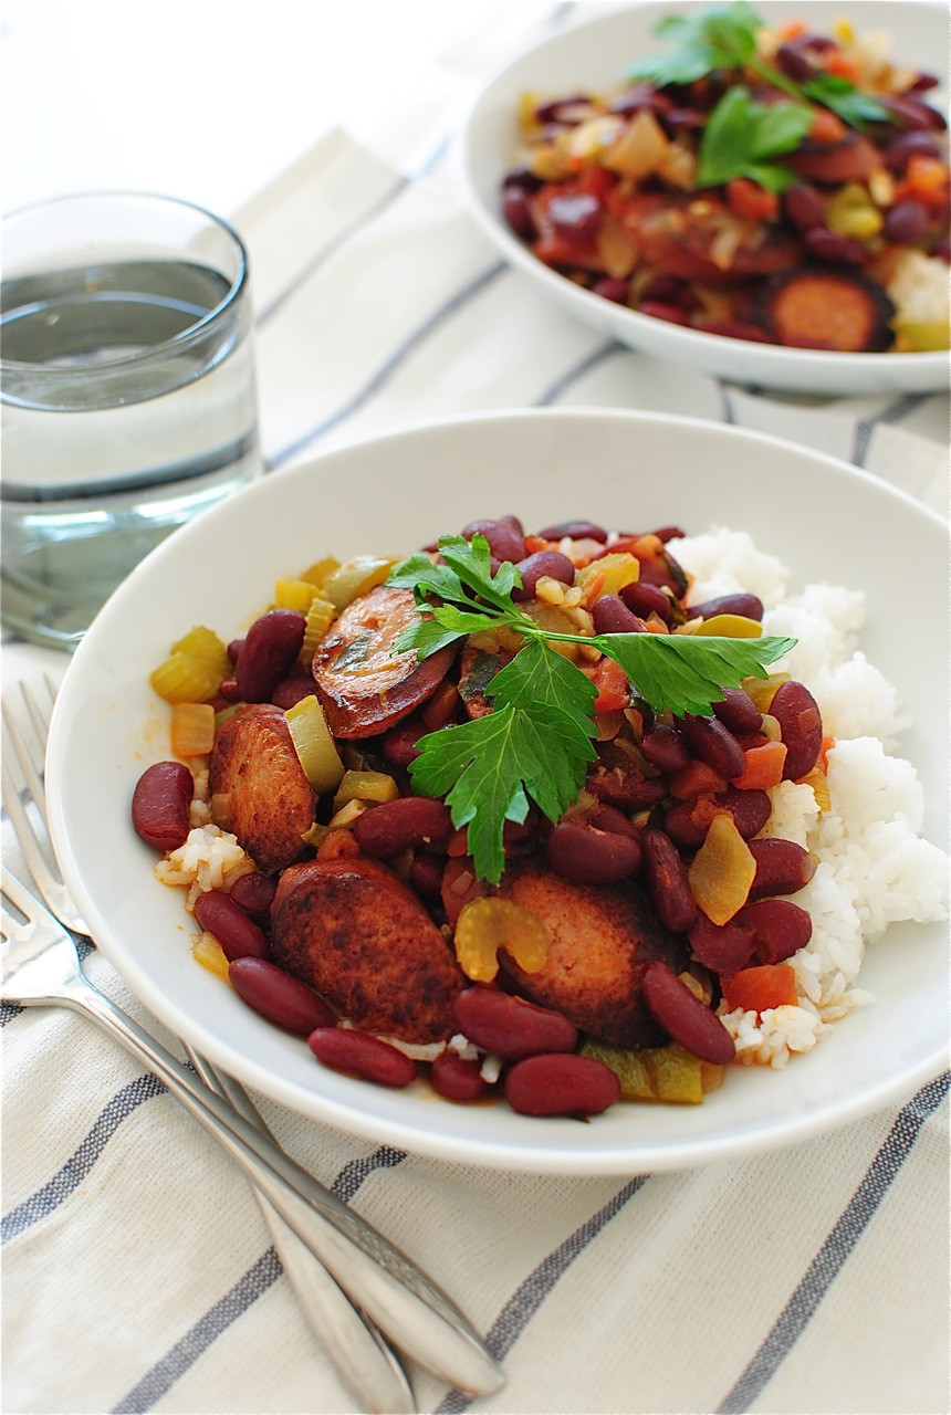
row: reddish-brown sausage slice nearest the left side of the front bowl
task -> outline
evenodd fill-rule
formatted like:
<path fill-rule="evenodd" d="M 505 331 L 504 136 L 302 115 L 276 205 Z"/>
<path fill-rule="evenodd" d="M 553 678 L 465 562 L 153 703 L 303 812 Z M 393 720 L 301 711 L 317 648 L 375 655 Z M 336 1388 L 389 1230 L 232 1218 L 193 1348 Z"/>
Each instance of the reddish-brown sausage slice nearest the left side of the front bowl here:
<path fill-rule="evenodd" d="M 238 838 L 259 870 L 272 874 L 300 859 L 314 792 L 280 708 L 239 708 L 218 729 L 208 785 L 215 825 Z"/>

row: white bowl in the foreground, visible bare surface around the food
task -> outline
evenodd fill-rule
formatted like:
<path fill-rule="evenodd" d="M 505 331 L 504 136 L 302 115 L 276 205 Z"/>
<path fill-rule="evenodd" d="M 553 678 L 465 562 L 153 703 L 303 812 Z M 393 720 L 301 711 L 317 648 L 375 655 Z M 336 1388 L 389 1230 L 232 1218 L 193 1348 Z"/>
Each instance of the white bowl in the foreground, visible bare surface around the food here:
<path fill-rule="evenodd" d="M 927 833 L 943 843 L 948 548 L 935 515 L 843 463 L 720 424 L 575 409 L 473 416 L 265 478 L 175 532 L 102 610 L 67 672 L 48 756 L 55 845 L 102 951 L 167 1026 L 276 1101 L 378 1142 L 495 1167 L 692 1166 L 841 1125 L 934 1074 L 947 1037 L 940 924 L 890 928 L 862 974 L 877 1005 L 785 1071 L 737 1067 L 702 1107 L 616 1105 L 589 1125 L 324 1070 L 304 1040 L 194 962 L 183 893 L 154 880 L 156 855 L 130 825 L 136 780 L 168 756 L 150 671 L 192 624 L 236 635 L 276 579 L 327 553 L 409 553 L 507 512 L 529 526 L 732 525 L 790 566 L 794 589 L 865 589 L 863 647 L 914 713 L 903 751 L 927 784 Z"/>

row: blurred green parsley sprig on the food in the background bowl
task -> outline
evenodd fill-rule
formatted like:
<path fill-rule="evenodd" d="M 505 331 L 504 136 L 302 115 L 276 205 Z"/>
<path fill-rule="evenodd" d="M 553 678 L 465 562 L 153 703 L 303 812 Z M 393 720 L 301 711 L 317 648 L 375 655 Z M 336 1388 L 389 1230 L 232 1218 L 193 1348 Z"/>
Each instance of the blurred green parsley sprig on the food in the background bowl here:
<path fill-rule="evenodd" d="M 889 110 L 877 99 L 841 75 L 818 72 L 800 83 L 767 64 L 756 44 L 763 24 L 747 0 L 706 6 L 692 14 L 669 14 L 654 33 L 671 40 L 672 48 L 628 68 L 630 78 L 651 79 L 661 88 L 693 83 L 715 69 L 744 71 L 788 95 L 790 102 L 759 103 L 743 85 L 727 89 L 701 140 L 701 187 L 750 177 L 768 191 L 784 191 L 795 175 L 776 158 L 794 151 L 807 136 L 812 103 L 831 109 L 849 127 L 890 120 Z"/>

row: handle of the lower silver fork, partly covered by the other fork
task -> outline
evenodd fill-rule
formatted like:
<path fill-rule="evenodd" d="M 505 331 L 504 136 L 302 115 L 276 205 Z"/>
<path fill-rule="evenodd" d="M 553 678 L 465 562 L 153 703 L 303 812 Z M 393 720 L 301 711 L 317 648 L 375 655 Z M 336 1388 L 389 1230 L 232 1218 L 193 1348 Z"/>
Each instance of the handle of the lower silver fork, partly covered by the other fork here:
<path fill-rule="evenodd" d="M 185 1043 L 198 1077 L 224 1097 L 239 1115 L 269 1133 L 243 1087 L 221 1075 Z M 253 1190 L 287 1281 L 300 1299 L 311 1330 L 331 1354 L 337 1370 L 374 1415 L 412 1415 L 416 1409 L 406 1373 L 381 1333 L 352 1305 L 324 1265 L 289 1228 L 270 1200 Z"/>

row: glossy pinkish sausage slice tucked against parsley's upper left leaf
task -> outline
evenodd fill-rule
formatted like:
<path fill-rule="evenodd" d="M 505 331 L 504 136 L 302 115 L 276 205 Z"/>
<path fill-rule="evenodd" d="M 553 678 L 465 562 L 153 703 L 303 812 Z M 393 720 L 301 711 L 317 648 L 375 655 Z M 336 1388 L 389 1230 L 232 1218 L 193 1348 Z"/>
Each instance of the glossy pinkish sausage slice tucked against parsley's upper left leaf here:
<path fill-rule="evenodd" d="M 422 664 L 396 640 L 419 621 L 410 590 L 381 584 L 348 604 L 314 654 L 314 682 L 335 737 L 372 737 L 419 708 L 453 659 L 440 648 Z"/>

